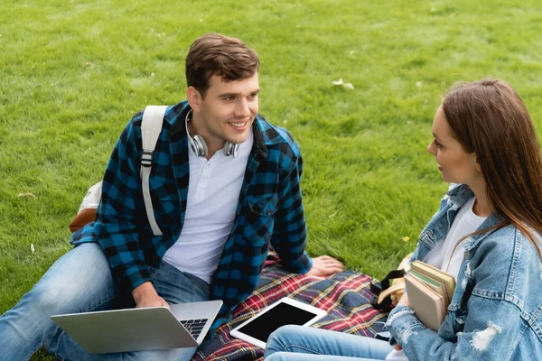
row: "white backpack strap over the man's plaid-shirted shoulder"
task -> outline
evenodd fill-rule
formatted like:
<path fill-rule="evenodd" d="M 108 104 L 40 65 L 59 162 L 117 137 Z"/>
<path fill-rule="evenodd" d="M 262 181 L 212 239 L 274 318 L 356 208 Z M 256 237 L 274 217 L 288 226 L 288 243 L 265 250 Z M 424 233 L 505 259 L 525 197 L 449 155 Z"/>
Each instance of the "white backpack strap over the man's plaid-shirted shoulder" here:
<path fill-rule="evenodd" d="M 151 166 L 153 165 L 153 153 L 158 142 L 158 136 L 162 131 L 164 114 L 167 106 L 146 106 L 141 121 L 141 143 L 143 143 L 143 153 L 141 154 L 141 186 L 143 189 L 143 199 L 145 200 L 145 211 L 149 224 L 153 228 L 154 236 L 161 236 L 162 231 L 154 219 L 153 202 L 151 201 L 151 192 L 149 190 L 149 176 L 151 175 Z"/>

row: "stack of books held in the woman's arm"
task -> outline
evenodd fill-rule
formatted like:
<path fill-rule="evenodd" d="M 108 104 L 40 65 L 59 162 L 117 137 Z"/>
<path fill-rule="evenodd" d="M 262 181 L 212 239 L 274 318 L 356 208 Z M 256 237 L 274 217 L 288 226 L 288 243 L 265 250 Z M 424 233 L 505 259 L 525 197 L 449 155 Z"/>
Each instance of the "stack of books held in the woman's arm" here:
<path fill-rule="evenodd" d="M 438 331 L 452 301 L 455 279 L 452 275 L 421 261 L 410 264 L 405 274 L 410 308 L 426 327 Z"/>

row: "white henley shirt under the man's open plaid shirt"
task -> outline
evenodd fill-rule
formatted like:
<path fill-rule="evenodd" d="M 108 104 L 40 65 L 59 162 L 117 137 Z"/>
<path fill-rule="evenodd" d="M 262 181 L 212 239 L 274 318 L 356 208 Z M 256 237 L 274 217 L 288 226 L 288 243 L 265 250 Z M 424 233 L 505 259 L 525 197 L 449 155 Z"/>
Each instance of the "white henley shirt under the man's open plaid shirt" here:
<path fill-rule="evenodd" d="M 235 156 L 219 150 L 208 161 L 189 148 L 190 180 L 181 236 L 164 261 L 210 283 L 228 239 L 252 149 L 252 129 Z"/>

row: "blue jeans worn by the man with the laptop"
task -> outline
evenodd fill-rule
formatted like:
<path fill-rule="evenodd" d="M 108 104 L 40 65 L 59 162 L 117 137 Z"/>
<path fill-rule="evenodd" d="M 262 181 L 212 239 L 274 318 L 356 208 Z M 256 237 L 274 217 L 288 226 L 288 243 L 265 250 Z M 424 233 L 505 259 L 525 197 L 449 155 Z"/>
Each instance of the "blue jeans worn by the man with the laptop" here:
<path fill-rule="evenodd" d="M 162 262 L 150 272 L 156 292 L 168 303 L 209 300 L 207 282 L 171 264 Z M 1 357 L 28 360 L 44 344 L 52 354 L 66 360 L 190 360 L 195 347 L 89 355 L 50 319 L 54 314 L 122 308 L 122 298 L 101 247 L 78 245 L 0 317 Z"/>

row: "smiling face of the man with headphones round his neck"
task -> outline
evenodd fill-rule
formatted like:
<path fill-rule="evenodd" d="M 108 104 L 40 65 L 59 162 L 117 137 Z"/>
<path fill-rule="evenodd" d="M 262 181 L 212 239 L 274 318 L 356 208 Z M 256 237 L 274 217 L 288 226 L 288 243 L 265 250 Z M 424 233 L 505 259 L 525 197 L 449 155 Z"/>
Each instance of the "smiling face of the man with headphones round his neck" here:
<path fill-rule="evenodd" d="M 192 106 L 197 134 L 209 145 L 243 143 L 257 115 L 257 73 L 234 81 L 213 75 L 209 84 L 205 97 L 199 97 L 198 106 Z"/>

